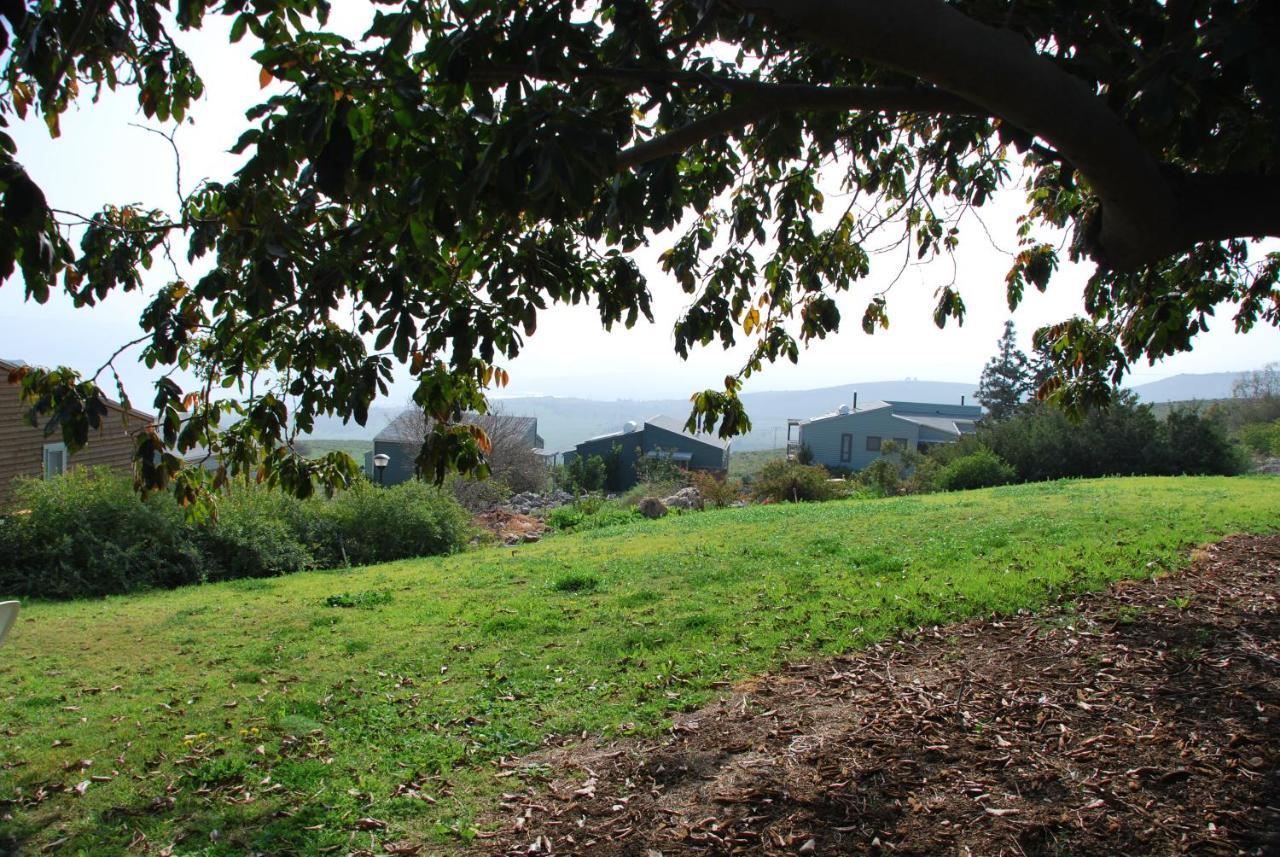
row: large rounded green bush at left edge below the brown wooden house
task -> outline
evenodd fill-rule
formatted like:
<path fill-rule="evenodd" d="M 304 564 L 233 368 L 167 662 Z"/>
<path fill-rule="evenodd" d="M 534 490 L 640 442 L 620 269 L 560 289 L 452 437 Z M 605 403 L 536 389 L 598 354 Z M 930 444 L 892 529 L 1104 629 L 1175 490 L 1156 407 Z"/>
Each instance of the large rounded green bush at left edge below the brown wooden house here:
<path fill-rule="evenodd" d="M 40 597 L 109 595 L 204 578 L 204 558 L 168 494 L 146 501 L 132 481 L 101 468 L 23 480 L 20 514 L 5 523 L 0 592 Z"/>

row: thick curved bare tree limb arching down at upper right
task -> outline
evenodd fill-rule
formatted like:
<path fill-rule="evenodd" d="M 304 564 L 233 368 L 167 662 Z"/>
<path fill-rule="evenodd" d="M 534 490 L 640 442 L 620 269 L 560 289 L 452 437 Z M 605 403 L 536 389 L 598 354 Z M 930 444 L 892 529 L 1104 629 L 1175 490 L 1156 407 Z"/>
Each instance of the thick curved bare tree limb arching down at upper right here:
<path fill-rule="evenodd" d="M 1185 244 L 1174 191 L 1124 122 L 1024 38 L 943 0 L 735 0 L 817 43 L 919 77 L 1037 134 L 1102 202 L 1094 257 L 1130 269 Z"/>

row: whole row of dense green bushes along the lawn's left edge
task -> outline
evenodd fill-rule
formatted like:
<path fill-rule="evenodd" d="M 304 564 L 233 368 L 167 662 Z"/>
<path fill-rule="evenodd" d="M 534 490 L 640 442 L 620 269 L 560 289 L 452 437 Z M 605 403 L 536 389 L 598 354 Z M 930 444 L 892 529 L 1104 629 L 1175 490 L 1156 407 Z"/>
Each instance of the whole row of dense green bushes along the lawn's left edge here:
<path fill-rule="evenodd" d="M 81 468 L 22 482 L 18 507 L 0 517 L 0 594 L 51 599 L 448 554 L 470 536 L 421 482 L 358 482 L 333 500 L 238 485 L 216 522 L 193 523 L 170 495 L 143 500 L 128 477 Z"/>

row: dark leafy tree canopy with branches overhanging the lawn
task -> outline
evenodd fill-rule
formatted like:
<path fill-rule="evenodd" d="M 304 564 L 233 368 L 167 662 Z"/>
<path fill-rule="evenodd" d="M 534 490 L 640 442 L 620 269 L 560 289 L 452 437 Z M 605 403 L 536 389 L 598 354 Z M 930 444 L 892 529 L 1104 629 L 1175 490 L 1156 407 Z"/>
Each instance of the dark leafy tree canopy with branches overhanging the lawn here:
<path fill-rule="evenodd" d="M 1009 306 L 1047 288 L 1061 255 L 1096 263 L 1084 315 L 1037 333 L 1059 370 L 1042 395 L 1098 402 L 1224 306 L 1239 330 L 1280 322 L 1280 255 L 1249 252 L 1280 234 L 1270 0 L 378 0 L 360 40 L 326 32 L 328 12 L 0 4 L 5 123 L 35 111 L 58 134 L 102 87 L 182 120 L 204 83 L 170 31 L 209 15 L 256 40 L 264 84 L 285 84 L 248 111 L 241 169 L 175 211 L 55 211 L 0 137 L 0 274 L 19 271 L 31 299 L 138 289 L 179 237 L 207 266 L 142 317 L 142 359 L 201 377 L 156 385 L 143 487 L 198 495 L 205 477 L 178 457 L 195 446 L 224 462 L 215 484 L 237 469 L 300 492 L 340 482 L 349 459 L 306 462 L 288 440 L 321 413 L 364 421 L 396 363 L 435 426 L 424 469 L 479 467 L 483 432 L 457 418 L 485 409 L 540 312 L 589 301 L 607 327 L 650 315 L 630 256 L 646 242 L 690 295 L 680 354 L 753 343 L 690 417 L 742 431 L 741 381 L 835 333 L 836 297 L 877 247 L 952 252 L 1019 164 Z M 819 215 L 824 182 L 851 192 L 842 212 Z M 865 298 L 860 326 L 887 326 L 887 295 Z M 938 289 L 940 326 L 964 312 L 954 284 Z M 102 418 L 97 380 L 22 382 L 74 446 Z"/>

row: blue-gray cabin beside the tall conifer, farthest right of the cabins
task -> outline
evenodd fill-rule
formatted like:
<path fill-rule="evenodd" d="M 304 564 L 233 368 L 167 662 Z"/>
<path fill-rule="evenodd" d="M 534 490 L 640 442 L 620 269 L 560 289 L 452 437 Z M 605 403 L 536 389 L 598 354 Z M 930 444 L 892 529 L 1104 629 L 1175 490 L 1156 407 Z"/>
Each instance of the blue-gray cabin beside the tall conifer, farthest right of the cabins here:
<path fill-rule="evenodd" d="M 840 405 L 833 413 L 812 420 L 792 420 L 787 427 L 787 455 L 799 457 L 808 448 L 813 463 L 836 469 L 860 471 L 877 458 L 887 441 L 899 449 L 925 452 L 933 444 L 950 444 L 972 435 L 982 407 L 925 402 L 870 402 L 859 408 Z M 799 430 L 797 435 L 794 430 Z"/>

